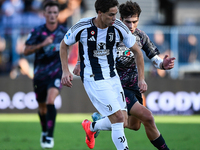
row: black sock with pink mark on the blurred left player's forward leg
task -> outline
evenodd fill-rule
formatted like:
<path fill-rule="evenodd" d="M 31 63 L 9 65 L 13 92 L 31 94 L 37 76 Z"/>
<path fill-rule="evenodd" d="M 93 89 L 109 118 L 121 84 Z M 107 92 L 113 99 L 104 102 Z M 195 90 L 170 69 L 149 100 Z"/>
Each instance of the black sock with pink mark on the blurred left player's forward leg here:
<path fill-rule="evenodd" d="M 53 131 L 55 127 L 56 120 L 56 108 L 55 105 L 47 105 L 47 127 L 48 127 L 48 137 L 53 137 Z"/>

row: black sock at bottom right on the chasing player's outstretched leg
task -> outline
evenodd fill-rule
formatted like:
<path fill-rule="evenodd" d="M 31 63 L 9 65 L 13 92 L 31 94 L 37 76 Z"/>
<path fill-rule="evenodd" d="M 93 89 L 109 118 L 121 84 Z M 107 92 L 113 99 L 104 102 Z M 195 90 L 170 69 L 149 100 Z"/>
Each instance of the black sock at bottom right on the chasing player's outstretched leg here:
<path fill-rule="evenodd" d="M 160 135 L 157 139 L 154 141 L 151 141 L 151 143 L 158 149 L 158 150 L 169 150 L 167 147 L 167 144 L 165 143 L 164 138 L 162 135 Z"/>

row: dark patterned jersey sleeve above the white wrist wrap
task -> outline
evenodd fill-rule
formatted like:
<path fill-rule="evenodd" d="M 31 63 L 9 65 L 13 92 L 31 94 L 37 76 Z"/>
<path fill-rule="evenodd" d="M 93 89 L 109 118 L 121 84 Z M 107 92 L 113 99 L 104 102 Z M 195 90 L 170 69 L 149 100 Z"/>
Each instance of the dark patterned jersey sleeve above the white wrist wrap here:
<path fill-rule="evenodd" d="M 153 58 L 155 55 L 160 54 L 157 47 L 154 45 L 153 42 L 151 42 L 148 35 L 144 31 L 137 29 L 134 34 L 136 34 L 136 36 L 139 36 L 140 44 L 141 44 L 140 46 L 144 50 L 146 56 L 149 59 Z"/>

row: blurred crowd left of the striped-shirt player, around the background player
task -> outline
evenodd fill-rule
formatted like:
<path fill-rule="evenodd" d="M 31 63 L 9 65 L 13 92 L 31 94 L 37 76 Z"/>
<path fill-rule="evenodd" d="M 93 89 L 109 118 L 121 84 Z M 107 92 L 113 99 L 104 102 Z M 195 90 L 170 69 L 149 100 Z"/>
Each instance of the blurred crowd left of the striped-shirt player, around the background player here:
<path fill-rule="evenodd" d="M 24 56 L 24 43 L 31 29 L 45 23 L 43 3 L 47 0 L 0 1 L 0 75 L 19 75 L 33 78 L 34 54 Z M 58 21 L 66 28 L 77 22 L 85 11 L 82 0 L 56 0 L 60 4 Z M 70 49 L 69 64 L 73 67 L 78 56 L 78 46 Z"/>

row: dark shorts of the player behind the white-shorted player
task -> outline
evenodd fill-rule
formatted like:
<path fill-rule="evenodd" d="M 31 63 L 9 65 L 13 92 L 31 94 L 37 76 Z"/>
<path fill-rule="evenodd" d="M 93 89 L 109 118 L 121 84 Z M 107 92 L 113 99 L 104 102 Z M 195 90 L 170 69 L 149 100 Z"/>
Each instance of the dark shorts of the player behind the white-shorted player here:
<path fill-rule="evenodd" d="M 124 88 L 124 94 L 126 97 L 128 115 L 130 115 L 129 112 L 137 101 L 139 101 L 140 104 L 143 104 L 142 94 L 140 93 L 139 90 L 130 90 L 125 88 Z"/>

